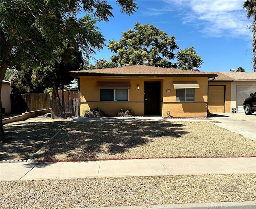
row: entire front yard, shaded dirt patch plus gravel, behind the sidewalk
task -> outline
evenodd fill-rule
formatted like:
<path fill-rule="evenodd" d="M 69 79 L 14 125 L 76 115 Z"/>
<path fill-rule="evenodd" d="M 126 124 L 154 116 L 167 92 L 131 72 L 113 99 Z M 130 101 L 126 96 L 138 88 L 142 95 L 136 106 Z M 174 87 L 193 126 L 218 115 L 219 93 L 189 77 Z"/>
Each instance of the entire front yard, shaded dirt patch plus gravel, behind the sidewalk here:
<path fill-rule="evenodd" d="M 27 160 L 71 119 L 41 116 L 4 125 L 1 160 Z M 72 121 L 35 160 L 251 157 L 256 142 L 203 121 Z"/>

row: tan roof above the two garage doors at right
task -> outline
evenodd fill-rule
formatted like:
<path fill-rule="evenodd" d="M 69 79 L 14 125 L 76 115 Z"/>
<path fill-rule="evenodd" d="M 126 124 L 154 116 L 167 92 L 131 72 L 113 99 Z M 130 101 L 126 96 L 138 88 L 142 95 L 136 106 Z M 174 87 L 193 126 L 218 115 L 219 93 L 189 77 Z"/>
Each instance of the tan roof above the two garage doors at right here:
<path fill-rule="evenodd" d="M 246 73 L 246 72 L 214 72 L 217 74 L 211 81 L 256 81 L 256 73 Z"/>

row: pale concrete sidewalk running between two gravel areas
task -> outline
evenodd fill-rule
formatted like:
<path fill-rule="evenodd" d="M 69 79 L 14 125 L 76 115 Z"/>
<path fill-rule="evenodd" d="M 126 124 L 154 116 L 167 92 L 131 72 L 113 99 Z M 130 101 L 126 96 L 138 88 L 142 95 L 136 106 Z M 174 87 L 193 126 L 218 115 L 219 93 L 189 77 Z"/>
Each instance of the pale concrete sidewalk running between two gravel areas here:
<path fill-rule="evenodd" d="M 256 157 L 0 163 L 0 180 L 256 173 Z"/>

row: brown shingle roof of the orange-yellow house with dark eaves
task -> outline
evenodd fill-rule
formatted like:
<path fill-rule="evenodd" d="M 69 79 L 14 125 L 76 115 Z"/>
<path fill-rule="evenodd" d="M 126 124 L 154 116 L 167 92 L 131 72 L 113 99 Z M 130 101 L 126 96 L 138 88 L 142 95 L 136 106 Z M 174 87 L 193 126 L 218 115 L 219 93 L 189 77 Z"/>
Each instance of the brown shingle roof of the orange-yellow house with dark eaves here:
<path fill-rule="evenodd" d="M 128 76 L 128 77 L 208 77 L 214 78 L 214 72 L 159 68 L 154 66 L 133 65 L 120 68 L 103 68 L 97 70 L 80 70 L 69 72 L 71 76 Z"/>

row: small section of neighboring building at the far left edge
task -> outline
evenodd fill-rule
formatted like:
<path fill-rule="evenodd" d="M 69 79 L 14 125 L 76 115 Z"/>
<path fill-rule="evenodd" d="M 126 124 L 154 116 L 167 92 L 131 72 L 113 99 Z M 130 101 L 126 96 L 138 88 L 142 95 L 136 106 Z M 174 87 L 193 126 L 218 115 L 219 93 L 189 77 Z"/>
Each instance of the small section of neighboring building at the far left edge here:
<path fill-rule="evenodd" d="M 1 97 L 2 97 L 2 107 L 5 113 L 11 112 L 11 83 L 8 81 L 2 81 L 2 90 L 1 90 Z"/>

